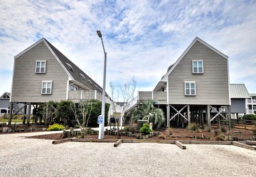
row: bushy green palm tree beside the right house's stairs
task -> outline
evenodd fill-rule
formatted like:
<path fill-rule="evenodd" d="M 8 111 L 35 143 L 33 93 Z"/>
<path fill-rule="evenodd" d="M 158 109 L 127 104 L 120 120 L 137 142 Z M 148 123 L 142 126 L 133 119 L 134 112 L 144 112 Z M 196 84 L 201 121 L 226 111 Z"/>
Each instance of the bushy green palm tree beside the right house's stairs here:
<path fill-rule="evenodd" d="M 147 102 L 140 102 L 138 107 L 131 113 L 131 121 L 148 120 L 153 122 L 154 127 L 159 129 L 165 121 L 164 112 L 159 107 L 154 107 L 156 101 L 149 99 Z"/>

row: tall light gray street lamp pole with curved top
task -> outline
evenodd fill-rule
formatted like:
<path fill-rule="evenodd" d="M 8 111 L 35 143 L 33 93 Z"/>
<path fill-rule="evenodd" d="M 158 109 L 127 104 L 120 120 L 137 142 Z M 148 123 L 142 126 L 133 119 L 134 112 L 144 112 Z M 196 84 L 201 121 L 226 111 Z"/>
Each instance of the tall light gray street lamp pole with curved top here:
<path fill-rule="evenodd" d="M 99 124 L 99 139 L 104 138 L 104 123 L 105 123 L 105 89 L 106 89 L 106 65 L 107 65 L 107 53 L 105 52 L 105 47 L 102 40 L 102 35 L 100 31 L 97 31 L 98 36 L 101 39 L 101 43 L 104 51 L 104 73 L 103 73 L 103 89 L 102 89 L 102 104 L 101 104 L 101 115 L 102 115 L 102 123 Z"/>

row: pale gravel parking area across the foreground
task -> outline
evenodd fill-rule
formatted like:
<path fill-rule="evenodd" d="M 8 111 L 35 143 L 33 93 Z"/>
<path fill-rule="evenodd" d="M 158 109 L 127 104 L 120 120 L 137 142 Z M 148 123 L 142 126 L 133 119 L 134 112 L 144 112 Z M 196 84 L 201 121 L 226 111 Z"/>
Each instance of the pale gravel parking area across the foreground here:
<path fill-rule="evenodd" d="M 0 142 L 0 176 L 256 176 L 256 151 L 231 145 Z"/>

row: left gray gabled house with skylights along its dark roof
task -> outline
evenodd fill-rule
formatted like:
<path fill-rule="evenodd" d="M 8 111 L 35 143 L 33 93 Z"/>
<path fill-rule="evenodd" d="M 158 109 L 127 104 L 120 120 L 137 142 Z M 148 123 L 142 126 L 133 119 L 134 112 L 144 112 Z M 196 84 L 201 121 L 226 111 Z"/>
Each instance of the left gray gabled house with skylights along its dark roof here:
<path fill-rule="evenodd" d="M 101 100 L 102 88 L 45 38 L 14 57 L 10 107 L 23 103 L 30 113 L 31 105 L 67 99 Z"/>

